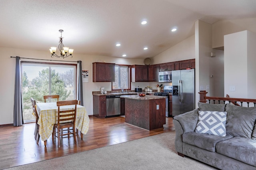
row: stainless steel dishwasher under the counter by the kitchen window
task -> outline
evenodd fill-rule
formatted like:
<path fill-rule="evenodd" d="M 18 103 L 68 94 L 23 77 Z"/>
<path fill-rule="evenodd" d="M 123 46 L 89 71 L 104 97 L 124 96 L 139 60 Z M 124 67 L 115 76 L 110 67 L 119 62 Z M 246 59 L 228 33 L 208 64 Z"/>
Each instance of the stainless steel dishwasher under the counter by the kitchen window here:
<path fill-rule="evenodd" d="M 106 96 L 107 101 L 107 113 L 106 117 L 114 117 L 120 115 L 120 95 Z"/>

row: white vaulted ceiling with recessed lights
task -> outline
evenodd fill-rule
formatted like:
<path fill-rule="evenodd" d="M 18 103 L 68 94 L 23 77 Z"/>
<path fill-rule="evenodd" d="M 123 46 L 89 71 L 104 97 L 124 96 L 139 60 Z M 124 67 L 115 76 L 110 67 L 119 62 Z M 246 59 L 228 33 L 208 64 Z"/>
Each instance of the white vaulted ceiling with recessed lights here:
<path fill-rule="evenodd" d="M 256 0 L 1 0 L 0 14 L 2 47 L 50 54 L 62 29 L 74 55 L 146 58 L 192 36 L 196 20 L 256 17 Z"/>

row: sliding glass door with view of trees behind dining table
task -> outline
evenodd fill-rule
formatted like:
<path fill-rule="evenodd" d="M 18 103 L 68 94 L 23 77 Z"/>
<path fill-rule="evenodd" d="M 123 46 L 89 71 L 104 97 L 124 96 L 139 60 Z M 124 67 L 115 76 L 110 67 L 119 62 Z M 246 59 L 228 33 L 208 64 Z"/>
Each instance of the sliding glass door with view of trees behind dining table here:
<path fill-rule="evenodd" d="M 44 95 L 60 95 L 60 101 L 76 99 L 76 65 L 22 62 L 21 66 L 25 123 L 35 121 L 31 97 L 36 103 L 44 102 Z"/>

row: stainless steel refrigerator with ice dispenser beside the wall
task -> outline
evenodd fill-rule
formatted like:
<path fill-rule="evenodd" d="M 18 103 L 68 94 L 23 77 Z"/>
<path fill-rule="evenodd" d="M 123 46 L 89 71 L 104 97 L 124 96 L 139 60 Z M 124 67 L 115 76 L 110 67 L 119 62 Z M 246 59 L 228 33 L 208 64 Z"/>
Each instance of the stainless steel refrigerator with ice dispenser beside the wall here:
<path fill-rule="evenodd" d="M 172 116 L 195 109 L 195 70 L 172 71 Z"/>

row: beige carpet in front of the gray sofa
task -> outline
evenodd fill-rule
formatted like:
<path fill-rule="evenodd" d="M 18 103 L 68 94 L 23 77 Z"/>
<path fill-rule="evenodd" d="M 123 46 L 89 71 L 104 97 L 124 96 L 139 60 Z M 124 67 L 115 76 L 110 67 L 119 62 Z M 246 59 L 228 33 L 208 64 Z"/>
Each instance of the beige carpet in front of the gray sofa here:
<path fill-rule="evenodd" d="M 175 132 L 8 168 L 8 170 L 214 170 L 192 158 L 178 156 Z"/>

